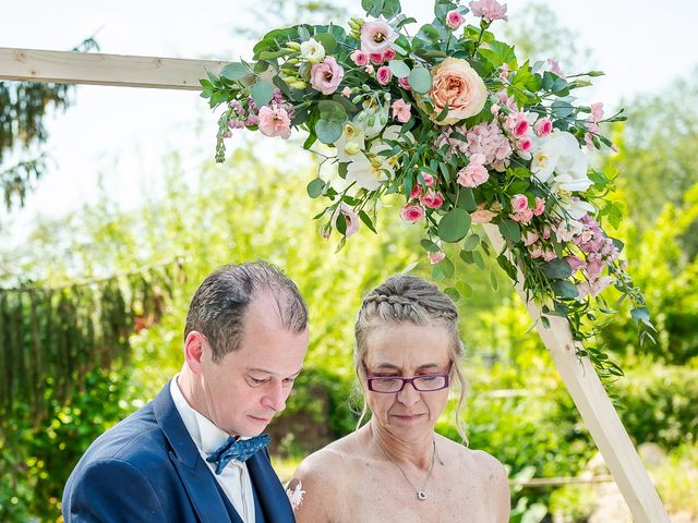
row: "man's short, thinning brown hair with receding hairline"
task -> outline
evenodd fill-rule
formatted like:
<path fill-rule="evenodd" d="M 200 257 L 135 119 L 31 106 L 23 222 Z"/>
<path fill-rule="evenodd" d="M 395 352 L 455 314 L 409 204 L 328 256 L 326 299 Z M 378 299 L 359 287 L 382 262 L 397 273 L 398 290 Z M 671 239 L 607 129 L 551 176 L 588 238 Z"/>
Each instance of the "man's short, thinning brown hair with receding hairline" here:
<path fill-rule="evenodd" d="M 261 294 L 273 297 L 285 329 L 300 333 L 308 327 L 308 308 L 296 283 L 266 262 L 224 265 L 198 287 L 189 305 L 184 339 L 192 331 L 206 337 L 213 361 L 240 348 L 244 314 Z"/>

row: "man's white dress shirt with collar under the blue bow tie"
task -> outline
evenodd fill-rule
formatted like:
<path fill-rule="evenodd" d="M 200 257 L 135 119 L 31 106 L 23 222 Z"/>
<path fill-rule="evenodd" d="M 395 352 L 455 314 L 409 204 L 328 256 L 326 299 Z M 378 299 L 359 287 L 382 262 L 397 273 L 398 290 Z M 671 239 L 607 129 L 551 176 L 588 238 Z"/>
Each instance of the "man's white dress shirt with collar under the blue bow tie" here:
<path fill-rule="evenodd" d="M 248 465 L 238 460 L 231 460 L 220 474 L 216 474 L 215 463 L 208 463 L 206 458 L 226 442 L 228 434 L 190 406 L 181 390 L 179 390 L 177 385 L 178 377 L 179 374 L 170 381 L 170 394 L 189 435 L 194 440 L 194 445 L 198 449 L 204 463 L 210 469 L 210 473 L 224 492 L 226 492 L 226 496 L 228 496 L 242 521 L 244 523 L 254 523 L 254 495 L 252 494 Z"/>

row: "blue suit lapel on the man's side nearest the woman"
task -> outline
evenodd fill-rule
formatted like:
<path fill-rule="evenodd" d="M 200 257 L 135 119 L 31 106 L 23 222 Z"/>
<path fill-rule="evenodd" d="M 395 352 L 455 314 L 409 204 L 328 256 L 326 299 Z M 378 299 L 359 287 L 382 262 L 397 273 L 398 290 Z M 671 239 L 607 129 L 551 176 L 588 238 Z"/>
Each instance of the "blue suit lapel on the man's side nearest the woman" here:
<path fill-rule="evenodd" d="M 294 522 L 293 510 L 284 486 L 269 463 L 266 449 L 260 450 L 246 461 L 250 478 L 254 486 L 256 503 L 266 521 L 274 523 Z"/>

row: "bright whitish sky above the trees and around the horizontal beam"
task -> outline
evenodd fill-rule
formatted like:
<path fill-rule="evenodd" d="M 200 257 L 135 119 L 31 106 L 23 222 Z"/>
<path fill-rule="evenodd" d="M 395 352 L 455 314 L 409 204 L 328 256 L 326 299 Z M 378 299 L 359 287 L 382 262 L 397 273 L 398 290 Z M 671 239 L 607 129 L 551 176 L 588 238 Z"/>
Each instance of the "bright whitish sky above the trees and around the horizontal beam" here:
<path fill-rule="evenodd" d="M 64 50 L 99 29 L 97 39 L 108 53 L 222 60 L 251 56 L 249 42 L 232 38 L 236 23 L 254 22 L 245 10 L 249 1 L 8 3 L 0 11 L 0 47 Z M 360 1 L 354 3 L 351 14 L 362 14 Z M 507 3 L 510 20 L 529 4 Z M 594 64 L 606 73 L 588 93 L 590 101 L 613 107 L 622 98 L 658 93 L 698 65 L 694 2 L 665 10 L 646 0 L 545 3 L 579 34 L 579 47 L 591 48 Z M 402 7 L 420 22 L 431 19 L 431 2 L 404 0 Z M 39 215 L 60 216 L 94 199 L 99 184 L 121 206 L 137 205 L 144 192 L 161 188 L 167 151 L 180 151 L 184 169 L 195 172 L 213 157 L 215 121 L 193 92 L 79 87 L 74 107 L 49 121 L 47 149 L 55 160 L 49 172 L 24 209 L 9 216 L 0 211 L 3 243 L 21 241 Z"/>

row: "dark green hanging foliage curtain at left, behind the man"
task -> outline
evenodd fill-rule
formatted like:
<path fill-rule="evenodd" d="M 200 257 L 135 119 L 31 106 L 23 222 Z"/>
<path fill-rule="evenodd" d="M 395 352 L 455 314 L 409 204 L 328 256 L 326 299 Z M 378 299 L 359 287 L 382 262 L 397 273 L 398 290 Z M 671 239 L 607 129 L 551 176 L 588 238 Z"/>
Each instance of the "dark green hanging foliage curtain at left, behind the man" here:
<path fill-rule="evenodd" d="M 0 419 L 46 397 L 65 402 L 85 376 L 129 357 L 129 336 L 157 323 L 181 282 L 181 260 L 67 285 L 0 289 Z M 1 423 L 1 422 L 0 422 Z"/>

